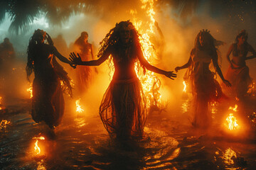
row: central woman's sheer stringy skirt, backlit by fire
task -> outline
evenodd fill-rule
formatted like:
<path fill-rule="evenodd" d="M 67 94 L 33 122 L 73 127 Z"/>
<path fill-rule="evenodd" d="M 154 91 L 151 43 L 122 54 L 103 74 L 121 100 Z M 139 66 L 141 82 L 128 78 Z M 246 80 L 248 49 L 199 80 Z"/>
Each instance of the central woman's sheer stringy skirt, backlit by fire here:
<path fill-rule="evenodd" d="M 142 137 L 146 114 L 146 98 L 139 79 L 112 80 L 100 105 L 100 118 L 110 137 Z"/>

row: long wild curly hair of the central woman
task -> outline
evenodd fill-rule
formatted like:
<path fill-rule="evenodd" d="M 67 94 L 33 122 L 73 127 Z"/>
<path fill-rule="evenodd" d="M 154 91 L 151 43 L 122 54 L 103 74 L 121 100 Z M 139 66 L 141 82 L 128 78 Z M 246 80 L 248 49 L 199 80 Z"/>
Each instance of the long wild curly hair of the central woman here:
<path fill-rule="evenodd" d="M 130 38 L 129 43 L 133 44 L 135 47 L 142 48 L 142 52 L 144 52 L 142 45 L 139 43 L 139 37 L 142 37 L 142 35 L 140 35 L 138 33 L 138 31 L 134 28 L 132 22 L 130 22 L 130 21 L 121 21 L 121 22 L 117 23 L 116 26 L 114 28 L 112 28 L 110 30 L 110 32 L 107 33 L 105 38 L 100 42 L 100 49 L 99 49 L 99 52 L 97 54 L 97 57 L 102 57 L 102 55 L 104 54 L 107 47 L 119 44 L 119 42 L 120 42 L 120 30 L 122 28 L 128 28 L 130 30 L 131 38 Z M 122 57 L 122 56 L 120 56 L 120 57 Z M 112 62 L 112 57 L 110 57 L 110 60 L 109 60 L 109 67 L 113 67 L 111 62 Z M 138 69 L 140 67 L 142 67 L 145 70 L 145 68 L 142 65 L 139 65 Z"/>

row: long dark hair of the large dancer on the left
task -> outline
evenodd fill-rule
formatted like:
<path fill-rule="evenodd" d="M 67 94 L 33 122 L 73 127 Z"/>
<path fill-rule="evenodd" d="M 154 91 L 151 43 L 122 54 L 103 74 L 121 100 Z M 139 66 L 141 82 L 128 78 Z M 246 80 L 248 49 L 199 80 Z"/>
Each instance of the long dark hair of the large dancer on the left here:
<path fill-rule="evenodd" d="M 31 76 L 32 72 L 34 71 L 34 60 L 36 57 L 36 45 L 42 42 L 42 40 L 46 39 L 47 43 L 49 45 L 53 45 L 53 40 L 50 38 L 50 35 L 46 33 L 43 30 L 35 30 L 33 35 L 31 36 L 29 43 L 28 43 L 28 62 L 26 65 L 26 73 L 27 73 L 27 78 L 29 80 L 29 77 Z M 62 89 L 63 91 L 67 91 L 67 93 L 72 96 L 72 86 L 70 84 L 70 77 L 68 77 L 68 73 L 65 72 L 64 68 L 58 64 L 58 62 L 55 60 L 55 55 L 53 55 L 53 67 L 55 68 L 56 74 L 58 74 L 58 78 L 60 81 L 63 82 Z"/>

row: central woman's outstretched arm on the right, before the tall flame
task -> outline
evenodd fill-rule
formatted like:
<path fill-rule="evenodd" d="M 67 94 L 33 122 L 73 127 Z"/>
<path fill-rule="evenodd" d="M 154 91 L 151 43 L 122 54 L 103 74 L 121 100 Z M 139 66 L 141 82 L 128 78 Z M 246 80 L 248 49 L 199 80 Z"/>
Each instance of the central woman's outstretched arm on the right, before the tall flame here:
<path fill-rule="evenodd" d="M 141 47 L 138 47 L 137 50 L 138 50 L 137 56 L 138 56 L 139 62 L 144 67 L 146 67 L 146 69 L 148 69 L 151 72 L 155 72 L 155 73 L 158 73 L 158 74 L 163 74 L 166 77 L 169 77 L 170 79 L 174 79 L 176 77 L 176 74 L 174 74 L 173 72 L 166 72 L 163 69 L 159 69 L 159 68 L 154 67 L 153 65 L 149 64 L 149 62 L 146 61 L 146 59 L 145 59 L 145 57 L 143 55 Z"/>

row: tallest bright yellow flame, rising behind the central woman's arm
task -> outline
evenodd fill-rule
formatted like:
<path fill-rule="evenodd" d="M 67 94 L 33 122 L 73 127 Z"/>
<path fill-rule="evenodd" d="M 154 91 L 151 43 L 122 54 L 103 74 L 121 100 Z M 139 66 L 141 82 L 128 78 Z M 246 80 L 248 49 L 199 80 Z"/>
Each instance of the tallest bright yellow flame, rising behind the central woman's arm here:
<path fill-rule="evenodd" d="M 139 37 L 140 44 L 144 50 L 144 57 L 149 63 L 154 62 L 157 59 L 156 52 L 152 47 L 152 43 L 149 40 L 154 33 L 154 0 L 141 0 L 142 1 L 142 9 L 146 11 L 147 16 L 149 16 L 149 21 L 146 23 L 142 20 L 139 20 L 135 17 L 137 11 L 131 10 L 130 13 L 134 16 L 132 23 L 134 23 L 134 27 L 138 30 L 138 32 L 142 35 Z M 142 24 L 143 23 L 143 24 Z M 142 27 L 143 26 L 143 27 Z M 136 66 L 139 67 L 138 64 Z M 138 69 L 136 69 L 138 70 Z M 155 76 L 154 72 L 147 71 L 146 74 L 143 72 L 137 72 L 137 75 L 142 82 L 142 89 L 146 96 L 146 106 L 149 108 L 150 106 L 159 106 L 161 103 L 161 94 L 159 93 L 161 82 Z"/>

